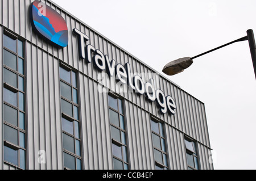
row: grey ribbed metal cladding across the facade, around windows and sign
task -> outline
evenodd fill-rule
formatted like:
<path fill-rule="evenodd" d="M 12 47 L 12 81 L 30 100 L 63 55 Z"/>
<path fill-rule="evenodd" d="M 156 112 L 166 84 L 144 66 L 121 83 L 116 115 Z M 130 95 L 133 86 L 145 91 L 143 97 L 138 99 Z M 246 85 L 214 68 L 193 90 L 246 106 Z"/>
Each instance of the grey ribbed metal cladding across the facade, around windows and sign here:
<path fill-rule="evenodd" d="M 26 96 L 27 96 L 27 165 L 28 169 L 63 169 L 63 145 L 61 128 L 61 104 L 59 87 L 59 62 L 65 62 L 79 75 L 82 161 L 84 169 L 113 169 L 112 140 L 110 132 L 108 93 L 98 91 L 102 87 L 100 72 L 78 56 L 77 28 L 89 36 L 86 44 L 93 45 L 115 60 L 117 64 L 129 62 L 132 73 L 139 73 L 144 81 L 154 79 L 155 89 L 171 95 L 176 102 L 176 114 L 162 114 L 155 102 L 135 92 L 119 92 L 115 78 L 104 80 L 105 89 L 116 92 L 124 99 L 127 148 L 130 169 L 155 169 L 151 136 L 151 115 L 165 122 L 168 164 L 170 169 L 187 169 L 184 135 L 198 144 L 201 169 L 213 169 L 209 163 L 210 141 L 204 104 L 180 87 L 162 77 L 126 50 L 118 47 L 100 33 L 68 14 L 51 1 L 43 0 L 55 9 L 67 22 L 69 43 L 63 49 L 48 44 L 32 31 L 28 7 L 32 0 L 0 1 L 0 32 L 3 28 L 19 35 L 26 42 Z M 2 35 L 0 36 L 2 57 Z M 0 61 L 0 85 L 3 85 Z M 105 73 L 105 71 L 102 71 Z M 100 83 L 99 83 L 100 82 Z M 0 102 L 2 103 L 2 91 Z M 0 104 L 0 110 L 3 110 Z M 3 116 L 0 118 L 2 131 Z M 3 142 L 3 134 L 0 134 Z M 46 164 L 38 163 L 39 150 L 46 151 Z M 3 165 L 3 145 L 0 144 L 0 169 L 13 169 Z"/>

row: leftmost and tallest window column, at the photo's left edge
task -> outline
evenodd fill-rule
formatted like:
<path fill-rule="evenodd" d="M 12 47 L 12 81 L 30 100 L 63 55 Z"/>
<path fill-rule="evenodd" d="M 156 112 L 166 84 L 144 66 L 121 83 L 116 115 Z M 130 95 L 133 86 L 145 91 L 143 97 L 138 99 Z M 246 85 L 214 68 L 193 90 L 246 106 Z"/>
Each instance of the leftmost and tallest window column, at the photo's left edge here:
<path fill-rule="evenodd" d="M 24 43 L 3 34 L 3 136 L 4 161 L 26 169 L 26 106 Z"/>

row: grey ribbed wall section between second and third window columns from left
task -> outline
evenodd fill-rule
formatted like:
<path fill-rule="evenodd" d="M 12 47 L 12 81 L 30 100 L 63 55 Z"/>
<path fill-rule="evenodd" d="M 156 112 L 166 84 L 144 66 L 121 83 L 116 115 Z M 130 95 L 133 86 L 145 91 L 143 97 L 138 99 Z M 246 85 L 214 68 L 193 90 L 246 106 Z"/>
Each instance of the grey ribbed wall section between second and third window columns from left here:
<path fill-rule="evenodd" d="M 97 89 L 97 82 L 80 74 L 85 169 L 109 169 L 112 165 L 110 122 L 108 116 L 105 116 L 109 111 L 108 96 L 98 92 Z"/>

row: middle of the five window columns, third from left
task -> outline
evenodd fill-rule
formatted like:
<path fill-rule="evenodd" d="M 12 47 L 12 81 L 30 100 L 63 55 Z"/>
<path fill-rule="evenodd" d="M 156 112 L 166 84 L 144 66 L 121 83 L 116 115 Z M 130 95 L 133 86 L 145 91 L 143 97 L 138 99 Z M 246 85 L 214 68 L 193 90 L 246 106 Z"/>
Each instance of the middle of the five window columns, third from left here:
<path fill-rule="evenodd" d="M 128 170 L 127 139 L 123 100 L 109 95 L 109 119 L 115 170 Z"/>

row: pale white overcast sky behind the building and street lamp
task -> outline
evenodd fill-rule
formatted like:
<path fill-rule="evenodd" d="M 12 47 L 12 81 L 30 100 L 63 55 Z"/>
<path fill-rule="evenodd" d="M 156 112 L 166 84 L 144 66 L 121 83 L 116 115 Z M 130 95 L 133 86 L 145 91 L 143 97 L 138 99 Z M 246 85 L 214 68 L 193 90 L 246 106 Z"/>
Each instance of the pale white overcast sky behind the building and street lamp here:
<path fill-rule="evenodd" d="M 145 64 L 162 72 L 246 36 L 256 37 L 256 1 L 52 0 Z M 205 104 L 214 169 L 256 169 L 256 79 L 248 41 L 194 60 L 169 77 Z"/>

